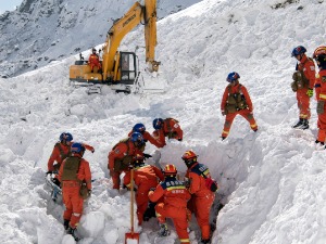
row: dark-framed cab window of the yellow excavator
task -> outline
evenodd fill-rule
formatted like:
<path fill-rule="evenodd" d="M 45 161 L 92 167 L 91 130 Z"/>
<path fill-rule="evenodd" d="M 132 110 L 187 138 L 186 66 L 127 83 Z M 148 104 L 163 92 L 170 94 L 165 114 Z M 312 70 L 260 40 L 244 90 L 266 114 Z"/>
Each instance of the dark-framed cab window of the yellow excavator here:
<path fill-rule="evenodd" d="M 134 52 L 121 52 L 121 81 L 133 81 L 136 78 L 136 55 Z"/>

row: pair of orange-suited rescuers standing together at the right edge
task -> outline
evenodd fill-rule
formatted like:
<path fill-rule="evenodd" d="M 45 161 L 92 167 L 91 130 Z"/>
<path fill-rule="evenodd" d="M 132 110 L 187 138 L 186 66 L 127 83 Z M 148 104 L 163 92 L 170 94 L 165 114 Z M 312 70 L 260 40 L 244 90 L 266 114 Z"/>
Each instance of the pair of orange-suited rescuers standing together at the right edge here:
<path fill-rule="evenodd" d="M 291 53 L 298 61 L 291 84 L 292 90 L 297 93 L 299 107 L 299 121 L 293 125 L 293 128 L 303 130 L 309 128 L 310 99 L 313 97 L 313 89 L 315 88 L 318 117 L 318 132 L 315 143 L 324 146 L 326 140 L 326 46 L 316 48 L 312 57 L 306 56 L 305 52 L 306 49 L 303 46 L 298 46 Z M 317 73 L 314 61 L 318 66 Z"/>

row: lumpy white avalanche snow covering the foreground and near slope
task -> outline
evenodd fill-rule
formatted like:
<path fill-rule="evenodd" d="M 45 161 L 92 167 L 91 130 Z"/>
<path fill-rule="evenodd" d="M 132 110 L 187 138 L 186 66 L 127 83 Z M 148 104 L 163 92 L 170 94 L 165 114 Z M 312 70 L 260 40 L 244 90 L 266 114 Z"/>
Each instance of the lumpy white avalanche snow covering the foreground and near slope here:
<path fill-rule="evenodd" d="M 305 46 L 308 54 L 325 44 L 326 7 L 321 0 L 289 2 L 279 7 L 279 1 L 267 0 L 205 0 L 162 20 L 156 50 L 163 65 L 156 81 L 167 87 L 165 93 L 124 95 L 104 88 L 101 95 L 87 95 L 85 88 L 67 84 L 74 57 L 0 79 L 4 243 L 74 243 L 63 234 L 63 207 L 51 202 L 43 184 L 48 157 L 62 131 L 96 147 L 95 154 L 85 155 L 96 181 L 78 230 L 85 236 L 82 243 L 124 243 L 129 193 L 110 189 L 108 152 L 136 123 L 151 131 L 158 116 L 177 118 L 185 132 L 183 142 L 171 141 L 161 150 L 162 163 L 175 164 L 183 174 L 180 156 L 192 149 L 220 183 L 225 207 L 213 243 L 325 243 L 326 156 L 314 144 L 315 100 L 311 128 L 290 127 L 298 119 L 290 89 L 296 61 L 290 53 L 298 44 Z M 138 36 L 141 30 L 130 34 L 124 46 L 133 50 L 142 43 Z M 220 104 L 233 70 L 250 92 L 259 132 L 250 131 L 239 117 L 222 142 Z M 146 152 L 154 151 L 147 146 Z M 191 227 L 196 244 L 196 223 Z M 154 219 L 137 230 L 140 243 L 154 243 Z M 173 232 L 155 242 L 170 244 L 175 239 Z"/>

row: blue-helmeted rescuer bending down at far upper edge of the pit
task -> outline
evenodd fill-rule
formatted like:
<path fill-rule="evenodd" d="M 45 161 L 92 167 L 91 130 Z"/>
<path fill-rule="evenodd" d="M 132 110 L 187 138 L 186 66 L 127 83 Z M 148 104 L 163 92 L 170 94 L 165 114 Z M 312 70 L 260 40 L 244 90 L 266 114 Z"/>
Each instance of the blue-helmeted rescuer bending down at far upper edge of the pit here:
<path fill-rule="evenodd" d="M 153 120 L 153 128 L 155 129 L 153 131 L 154 139 L 163 146 L 166 145 L 165 137 L 183 141 L 184 131 L 181 130 L 178 120 L 174 118 L 155 118 Z"/>

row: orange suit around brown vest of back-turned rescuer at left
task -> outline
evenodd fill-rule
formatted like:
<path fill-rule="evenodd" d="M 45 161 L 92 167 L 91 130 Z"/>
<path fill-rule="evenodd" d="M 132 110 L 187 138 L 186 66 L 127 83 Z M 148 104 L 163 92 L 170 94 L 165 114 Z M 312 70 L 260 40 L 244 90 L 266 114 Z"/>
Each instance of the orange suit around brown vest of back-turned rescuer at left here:
<path fill-rule="evenodd" d="M 80 158 L 78 172 L 76 174 L 77 180 L 62 180 L 64 166 L 70 157 L 63 160 L 60 167 L 59 180 L 61 181 L 63 203 L 65 205 L 63 219 L 70 220 L 70 226 L 75 229 L 79 223 L 84 207 L 84 200 L 79 195 L 80 182 L 86 182 L 87 189 L 91 190 L 91 172 L 87 160 L 79 155 L 72 157 Z"/>

